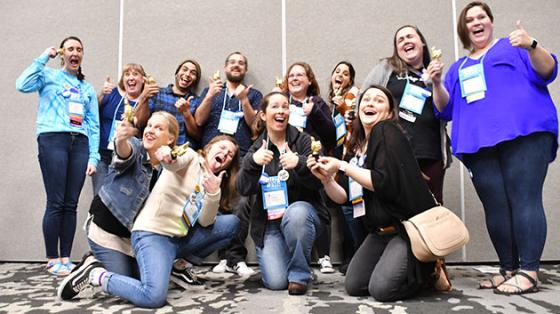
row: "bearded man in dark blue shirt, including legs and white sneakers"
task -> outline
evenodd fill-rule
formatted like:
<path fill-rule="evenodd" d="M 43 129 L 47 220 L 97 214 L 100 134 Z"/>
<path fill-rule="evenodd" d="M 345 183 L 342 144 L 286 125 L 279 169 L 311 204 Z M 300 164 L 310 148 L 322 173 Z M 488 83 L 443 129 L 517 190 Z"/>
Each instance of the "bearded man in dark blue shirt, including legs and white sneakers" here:
<path fill-rule="evenodd" d="M 252 85 L 245 86 L 243 80 L 247 73 L 247 58 L 240 52 L 230 53 L 225 61 L 224 72 L 226 81 L 222 81 L 219 73 L 210 78 L 210 86 L 202 91 L 200 98 L 193 102 L 196 107 L 195 118 L 202 128 L 202 145 L 206 145 L 219 134 L 229 134 L 237 140 L 241 158 L 253 144 L 251 125 L 256 118 L 262 94 Z M 195 103 L 196 102 L 196 103 Z M 249 209 L 254 197 L 242 197 L 233 206 L 239 218 L 239 234 L 224 252 L 219 252 L 220 263 L 213 271 L 237 273 L 250 276 L 254 271 L 247 267 L 245 258 L 247 249 L 244 241 L 249 232 Z M 228 213 L 220 208 L 222 213 Z"/>

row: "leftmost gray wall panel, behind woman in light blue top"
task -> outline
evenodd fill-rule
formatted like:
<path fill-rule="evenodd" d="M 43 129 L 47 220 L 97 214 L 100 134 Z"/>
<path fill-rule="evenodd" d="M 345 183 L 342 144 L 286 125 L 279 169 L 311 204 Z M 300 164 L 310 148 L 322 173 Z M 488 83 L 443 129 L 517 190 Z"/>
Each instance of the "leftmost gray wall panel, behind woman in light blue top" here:
<path fill-rule="evenodd" d="M 118 2 L 76 1 L 69 6 L 64 1 L 49 5 L 37 0 L 10 1 L 3 3 L 0 20 L 5 30 L 4 51 L 9 52 L 0 61 L 4 70 L 0 92 L 5 99 L 0 117 L 5 132 L 0 139 L 0 167 L 4 173 L 0 182 L 0 230 L 4 235 L 0 239 L 0 260 L 43 260 L 45 192 L 35 137 L 38 95 L 19 93 L 15 80 L 47 47 L 58 47 L 64 37 L 77 35 L 84 43 L 86 80 L 97 88 L 97 82 L 102 82 L 103 68 L 116 68 Z M 48 65 L 58 67 L 59 59 Z M 80 227 L 90 201 L 90 178 L 86 178 L 78 208 L 75 258 L 87 247 Z"/>

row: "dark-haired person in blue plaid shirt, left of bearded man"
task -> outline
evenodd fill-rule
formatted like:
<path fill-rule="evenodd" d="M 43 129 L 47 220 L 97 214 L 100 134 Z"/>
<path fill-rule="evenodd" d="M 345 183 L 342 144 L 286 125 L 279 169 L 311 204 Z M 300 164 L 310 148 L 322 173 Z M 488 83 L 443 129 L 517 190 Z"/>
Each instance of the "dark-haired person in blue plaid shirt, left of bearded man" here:
<path fill-rule="evenodd" d="M 197 97 L 195 90 L 201 73 L 198 62 L 187 59 L 179 63 L 175 70 L 175 84 L 160 89 L 156 82 L 147 80 L 136 105 L 136 126 L 142 129 L 153 112 L 167 111 L 179 122 L 177 145 L 189 142 L 195 150 L 202 147 L 201 129 L 195 122 L 195 109 L 191 106 L 191 101 Z"/>

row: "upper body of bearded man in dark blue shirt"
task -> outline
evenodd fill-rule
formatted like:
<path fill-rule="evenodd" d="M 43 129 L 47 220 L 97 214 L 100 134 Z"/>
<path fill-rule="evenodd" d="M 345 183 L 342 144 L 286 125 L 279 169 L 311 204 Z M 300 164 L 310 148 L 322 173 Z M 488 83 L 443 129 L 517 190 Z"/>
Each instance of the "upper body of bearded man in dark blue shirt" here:
<path fill-rule="evenodd" d="M 196 123 L 202 128 L 202 146 L 220 134 L 233 136 L 239 143 L 241 157 L 252 144 L 251 124 L 256 117 L 262 94 L 252 85 L 245 86 L 247 58 L 232 52 L 226 58 L 226 81 L 217 75 L 210 78 L 210 86 L 193 101 Z"/>

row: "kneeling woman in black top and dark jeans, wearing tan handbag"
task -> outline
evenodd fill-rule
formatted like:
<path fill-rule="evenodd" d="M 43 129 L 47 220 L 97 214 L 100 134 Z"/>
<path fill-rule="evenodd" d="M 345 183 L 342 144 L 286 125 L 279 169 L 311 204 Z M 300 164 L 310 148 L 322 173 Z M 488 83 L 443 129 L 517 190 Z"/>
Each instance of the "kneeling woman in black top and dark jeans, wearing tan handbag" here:
<path fill-rule="evenodd" d="M 436 205 L 401 127 L 391 93 L 372 85 L 361 95 L 347 154 L 350 162 L 311 158 L 308 166 L 321 179 L 329 197 L 349 200 L 369 234 L 356 251 L 346 274 L 350 295 L 378 301 L 410 297 L 429 283 L 434 263 L 421 263 L 410 251 L 402 224 Z M 344 173 L 339 180 L 336 172 Z M 347 180 L 347 181 L 345 181 Z"/>

